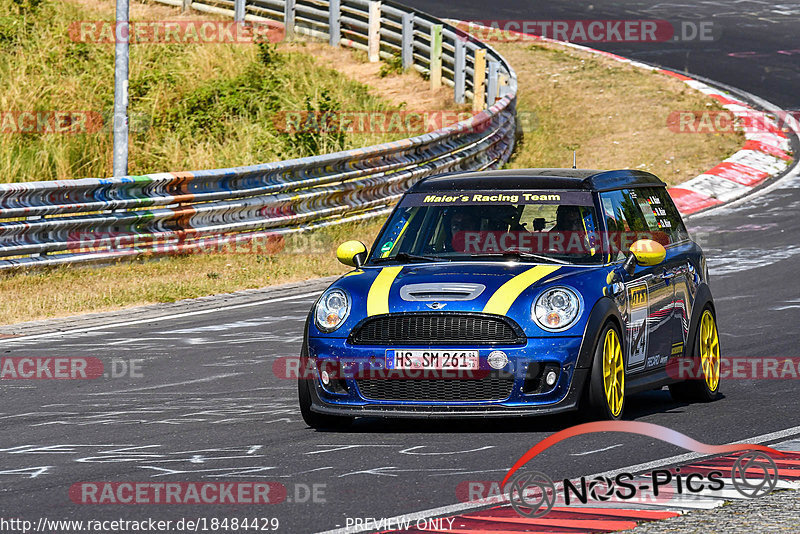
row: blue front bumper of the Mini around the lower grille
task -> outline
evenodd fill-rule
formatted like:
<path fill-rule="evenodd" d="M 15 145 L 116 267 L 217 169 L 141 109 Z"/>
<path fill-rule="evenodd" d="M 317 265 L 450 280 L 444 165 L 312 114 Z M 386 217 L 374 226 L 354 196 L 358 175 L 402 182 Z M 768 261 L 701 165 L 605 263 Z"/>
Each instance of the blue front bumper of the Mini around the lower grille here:
<path fill-rule="evenodd" d="M 316 372 L 311 381 L 313 387 L 310 388 L 311 410 L 341 416 L 409 418 L 516 417 L 573 410 L 577 408 L 588 375 L 587 369 L 575 367 L 581 341 L 581 338 L 575 337 L 530 338 L 524 345 L 459 347 L 459 350 L 478 350 L 480 370 L 484 373 L 498 373 L 488 365 L 489 353 L 501 350 L 508 356 L 508 365 L 499 372 L 509 381 L 510 387 L 501 396 L 492 399 L 371 398 L 362 391 L 357 378 L 342 377 L 335 387 L 332 385 L 333 381 L 329 380 L 325 386 L 320 380 L 319 372 Z M 355 366 L 362 370 L 385 365 L 387 348 L 389 347 L 351 345 L 343 338 L 308 339 L 308 357 L 317 363 L 319 369 L 325 368 L 325 364 L 331 362 L 335 362 L 338 368 Z M 442 350 L 452 347 L 427 348 Z M 532 387 L 532 377 L 537 372 L 542 375 L 545 370 L 557 371 L 556 383 L 550 387 L 540 381 L 537 387 Z"/>

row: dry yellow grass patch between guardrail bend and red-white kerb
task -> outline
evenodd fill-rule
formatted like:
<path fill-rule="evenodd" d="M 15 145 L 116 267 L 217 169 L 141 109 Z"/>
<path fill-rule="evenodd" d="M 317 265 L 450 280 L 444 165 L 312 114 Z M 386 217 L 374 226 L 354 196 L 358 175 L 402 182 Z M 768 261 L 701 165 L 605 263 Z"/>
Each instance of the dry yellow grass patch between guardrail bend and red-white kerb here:
<path fill-rule="evenodd" d="M 736 152 L 740 134 L 675 133 L 672 111 L 722 108 L 683 82 L 555 44 L 498 47 L 519 76 L 530 125 L 512 168 L 642 169 L 673 185 Z"/>

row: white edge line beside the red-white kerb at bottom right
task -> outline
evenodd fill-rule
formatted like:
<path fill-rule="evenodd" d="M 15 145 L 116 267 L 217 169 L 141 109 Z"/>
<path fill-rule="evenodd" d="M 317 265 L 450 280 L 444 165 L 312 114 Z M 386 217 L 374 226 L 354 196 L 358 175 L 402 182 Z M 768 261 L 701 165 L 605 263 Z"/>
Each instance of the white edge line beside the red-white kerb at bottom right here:
<path fill-rule="evenodd" d="M 800 426 L 795 426 L 795 427 L 792 427 L 792 428 L 787 428 L 785 430 L 778 430 L 777 432 L 770 432 L 769 434 L 762 434 L 760 436 L 754 436 L 754 437 L 752 437 L 750 439 L 733 441 L 731 443 L 728 443 L 727 445 L 731 445 L 731 444 L 734 444 L 734 443 L 764 443 L 764 442 L 767 442 L 767 441 L 773 441 L 773 440 L 776 440 L 776 439 L 785 438 L 785 437 L 788 437 L 788 436 L 794 436 L 794 435 L 798 435 L 798 434 L 800 434 Z M 622 472 L 622 471 L 624 471 L 626 473 L 644 472 L 644 471 L 649 471 L 651 469 L 654 469 L 656 467 L 662 467 L 662 466 L 665 466 L 665 465 L 683 463 L 683 462 L 686 462 L 688 460 L 694 460 L 695 458 L 702 458 L 704 456 L 708 456 L 708 455 L 707 454 L 697 453 L 697 452 L 688 452 L 688 453 L 685 453 L 685 454 L 678 454 L 676 456 L 670 456 L 668 458 L 662 458 L 660 460 L 654 460 L 652 462 L 645 462 L 645 463 L 641 463 L 641 464 L 631 465 L 631 466 L 628 466 L 628 467 L 620 467 L 618 469 L 604 471 L 602 473 L 596 473 L 594 475 L 587 475 L 586 478 L 594 478 L 594 477 L 599 477 L 599 476 L 609 476 L 609 475 L 614 475 L 614 474 Z M 427 519 L 427 518 L 431 518 L 431 517 L 455 515 L 455 514 L 459 514 L 459 513 L 463 513 L 463 512 L 467 512 L 467 511 L 471 511 L 471 510 L 479 510 L 479 509 L 482 509 L 482 508 L 486 508 L 487 506 L 492 505 L 492 504 L 502 504 L 503 502 L 506 502 L 507 499 L 505 497 L 498 497 L 495 502 L 491 502 L 491 501 L 487 502 L 487 501 L 488 500 L 484 500 L 481 503 L 464 502 L 464 503 L 458 503 L 458 504 L 451 504 L 451 505 L 448 505 L 448 506 L 441 506 L 439 508 L 431 508 L 429 510 L 421 510 L 419 512 L 412 512 L 410 514 L 398 515 L 398 516 L 395 516 L 395 517 L 387 518 L 387 521 L 391 522 L 393 524 L 397 524 L 397 522 L 400 521 L 400 520 L 416 521 L 418 519 Z M 720 502 L 722 502 L 722 501 L 720 501 Z M 324 532 L 319 532 L 317 534 L 353 534 L 353 533 L 356 533 L 356 532 L 367 532 L 367 531 L 373 531 L 373 530 L 375 530 L 375 529 L 368 528 L 366 525 L 364 525 L 364 526 L 360 526 L 360 527 L 344 527 L 344 528 L 337 528 L 337 529 L 333 529 L 333 530 L 326 530 Z"/>

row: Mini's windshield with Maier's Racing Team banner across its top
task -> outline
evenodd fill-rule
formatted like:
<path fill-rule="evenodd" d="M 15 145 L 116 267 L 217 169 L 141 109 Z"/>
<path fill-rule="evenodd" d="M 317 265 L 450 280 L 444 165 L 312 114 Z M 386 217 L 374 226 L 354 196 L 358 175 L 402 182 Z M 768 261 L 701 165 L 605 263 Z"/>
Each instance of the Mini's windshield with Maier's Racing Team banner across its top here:
<path fill-rule="evenodd" d="M 602 263 L 588 191 L 409 193 L 370 261 Z"/>

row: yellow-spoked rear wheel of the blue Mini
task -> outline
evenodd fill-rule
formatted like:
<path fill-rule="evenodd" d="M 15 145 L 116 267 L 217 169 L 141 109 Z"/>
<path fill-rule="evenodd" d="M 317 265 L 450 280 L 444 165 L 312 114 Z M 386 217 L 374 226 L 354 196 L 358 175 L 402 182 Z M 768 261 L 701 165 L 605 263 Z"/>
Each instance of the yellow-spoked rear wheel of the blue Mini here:
<path fill-rule="evenodd" d="M 711 402 L 719 398 L 719 332 L 711 306 L 706 306 L 697 324 L 692 345 L 692 368 L 699 370 L 696 379 L 669 385 L 672 399 L 678 402 Z"/>

